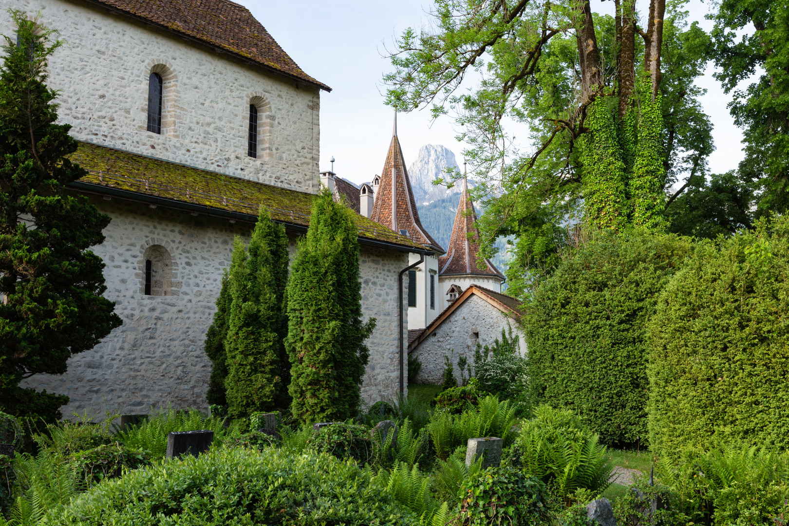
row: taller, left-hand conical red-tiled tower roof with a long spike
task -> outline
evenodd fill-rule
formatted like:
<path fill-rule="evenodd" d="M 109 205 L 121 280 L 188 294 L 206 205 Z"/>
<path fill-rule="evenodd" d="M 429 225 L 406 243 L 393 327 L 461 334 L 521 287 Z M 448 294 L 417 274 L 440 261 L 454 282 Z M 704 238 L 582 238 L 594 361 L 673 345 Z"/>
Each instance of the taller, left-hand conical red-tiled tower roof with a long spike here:
<path fill-rule="evenodd" d="M 387 160 L 383 163 L 370 218 L 395 232 L 406 230 L 413 241 L 434 248 L 438 252 L 445 252 L 441 245 L 436 243 L 436 240 L 424 229 L 419 220 L 417 203 L 413 199 L 411 182 L 406 170 L 406 161 L 402 158 L 402 149 L 397 138 L 396 114 L 392 140 L 389 144 Z"/>

